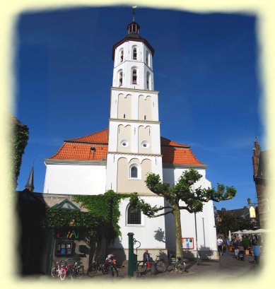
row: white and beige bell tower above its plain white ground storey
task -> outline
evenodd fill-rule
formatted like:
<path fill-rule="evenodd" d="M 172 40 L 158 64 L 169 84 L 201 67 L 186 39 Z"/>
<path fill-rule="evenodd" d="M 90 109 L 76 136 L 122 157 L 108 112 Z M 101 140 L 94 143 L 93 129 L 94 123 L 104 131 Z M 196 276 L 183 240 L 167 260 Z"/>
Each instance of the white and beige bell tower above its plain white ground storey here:
<path fill-rule="evenodd" d="M 158 91 L 154 90 L 154 49 L 133 19 L 127 35 L 112 49 L 106 190 L 152 194 L 144 183 L 150 172 L 163 175 Z"/>

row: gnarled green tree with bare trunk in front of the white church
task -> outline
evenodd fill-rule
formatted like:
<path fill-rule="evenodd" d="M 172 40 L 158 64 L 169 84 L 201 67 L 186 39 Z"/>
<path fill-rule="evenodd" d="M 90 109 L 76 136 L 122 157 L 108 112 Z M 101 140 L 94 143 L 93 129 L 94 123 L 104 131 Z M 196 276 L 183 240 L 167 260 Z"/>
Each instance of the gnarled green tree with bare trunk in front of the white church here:
<path fill-rule="evenodd" d="M 204 203 L 212 201 L 226 201 L 232 199 L 236 194 L 234 187 L 226 187 L 223 184 L 218 184 L 217 189 L 201 188 L 192 189 L 202 175 L 197 170 L 186 170 L 175 185 L 161 182 L 160 176 L 149 174 L 146 177 L 146 186 L 154 194 L 163 196 L 168 202 L 168 206 L 151 206 L 140 199 L 138 194 L 131 194 L 130 204 L 134 209 L 140 209 L 144 215 L 149 218 L 172 213 L 175 220 L 175 248 L 176 256 L 182 257 L 182 226 L 180 222 L 180 210 L 187 210 L 189 213 L 200 212 L 203 209 Z M 225 190 L 226 189 L 226 190 Z M 180 201 L 183 201 L 182 204 Z M 165 210 L 165 211 L 164 211 Z"/>

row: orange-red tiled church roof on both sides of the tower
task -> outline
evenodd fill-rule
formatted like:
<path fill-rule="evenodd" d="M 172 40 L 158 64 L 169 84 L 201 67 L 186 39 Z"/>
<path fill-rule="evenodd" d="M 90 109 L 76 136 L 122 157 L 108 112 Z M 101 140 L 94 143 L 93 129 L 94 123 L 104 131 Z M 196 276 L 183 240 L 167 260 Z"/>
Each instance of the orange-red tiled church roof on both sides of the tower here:
<path fill-rule="evenodd" d="M 95 147 L 91 151 L 90 147 Z M 73 138 L 64 141 L 61 148 L 49 159 L 54 160 L 105 160 L 108 151 L 108 131 Z M 160 137 L 160 151 L 163 164 L 172 165 L 204 165 L 195 157 L 189 146 L 176 143 L 168 138 Z"/>

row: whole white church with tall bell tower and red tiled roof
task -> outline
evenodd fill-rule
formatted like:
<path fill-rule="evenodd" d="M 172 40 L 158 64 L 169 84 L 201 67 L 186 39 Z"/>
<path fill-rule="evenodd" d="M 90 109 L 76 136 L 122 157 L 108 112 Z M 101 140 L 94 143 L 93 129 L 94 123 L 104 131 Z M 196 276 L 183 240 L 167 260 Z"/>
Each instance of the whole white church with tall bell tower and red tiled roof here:
<path fill-rule="evenodd" d="M 45 200 L 54 196 L 64 200 L 72 195 L 98 195 L 112 189 L 117 194 L 137 192 L 152 206 L 164 206 L 163 197 L 146 187 L 146 175 L 153 172 L 172 185 L 190 167 L 202 175 L 195 188 L 211 187 L 206 179 L 206 165 L 196 158 L 190 146 L 160 136 L 158 90 L 153 73 L 155 50 L 139 30 L 133 17 L 127 25 L 127 36 L 112 47 L 108 128 L 64 140 L 57 153 L 45 159 Z M 141 212 L 131 213 L 127 198 L 120 202 L 119 211 L 122 235 L 109 245 L 109 252 L 123 252 L 127 259 L 129 232 L 139 241 L 138 259 L 144 249 L 153 258 L 160 251 L 175 251 L 171 214 L 148 218 Z M 201 213 L 182 210 L 181 223 L 184 256 L 196 256 L 199 250 L 201 256 L 209 259 L 218 257 L 212 201 L 204 204 Z"/>

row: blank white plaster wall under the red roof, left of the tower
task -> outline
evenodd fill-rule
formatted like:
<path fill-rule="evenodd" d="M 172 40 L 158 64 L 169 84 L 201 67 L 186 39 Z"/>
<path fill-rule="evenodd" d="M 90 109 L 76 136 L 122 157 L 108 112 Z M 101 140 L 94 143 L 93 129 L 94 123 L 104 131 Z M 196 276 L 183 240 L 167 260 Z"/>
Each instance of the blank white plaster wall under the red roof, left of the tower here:
<path fill-rule="evenodd" d="M 104 194 L 105 165 L 46 164 L 44 194 Z"/>

